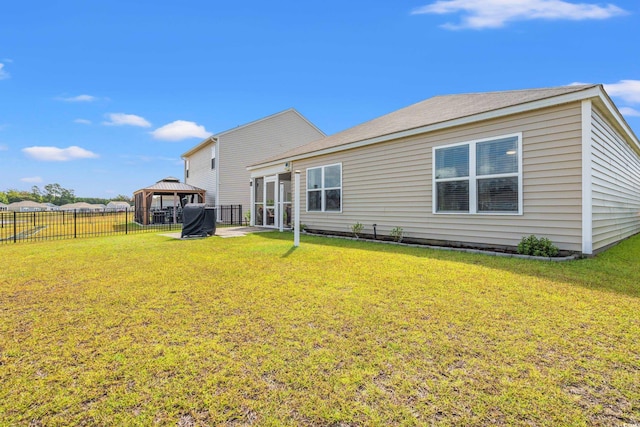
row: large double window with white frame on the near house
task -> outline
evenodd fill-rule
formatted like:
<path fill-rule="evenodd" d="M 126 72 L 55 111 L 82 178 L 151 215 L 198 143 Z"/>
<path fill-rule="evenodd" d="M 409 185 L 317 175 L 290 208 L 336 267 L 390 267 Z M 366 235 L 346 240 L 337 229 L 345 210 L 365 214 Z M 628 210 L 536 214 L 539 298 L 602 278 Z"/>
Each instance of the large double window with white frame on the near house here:
<path fill-rule="evenodd" d="M 522 213 L 522 134 L 434 153 L 434 213 Z"/>

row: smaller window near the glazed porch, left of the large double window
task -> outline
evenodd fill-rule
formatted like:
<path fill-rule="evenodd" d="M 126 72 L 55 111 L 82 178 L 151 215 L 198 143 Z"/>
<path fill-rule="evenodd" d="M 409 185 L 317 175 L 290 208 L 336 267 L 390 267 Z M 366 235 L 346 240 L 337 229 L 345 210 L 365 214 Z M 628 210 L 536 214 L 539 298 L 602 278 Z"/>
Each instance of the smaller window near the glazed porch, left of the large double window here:
<path fill-rule="evenodd" d="M 342 211 L 342 164 L 307 169 L 307 211 Z"/>

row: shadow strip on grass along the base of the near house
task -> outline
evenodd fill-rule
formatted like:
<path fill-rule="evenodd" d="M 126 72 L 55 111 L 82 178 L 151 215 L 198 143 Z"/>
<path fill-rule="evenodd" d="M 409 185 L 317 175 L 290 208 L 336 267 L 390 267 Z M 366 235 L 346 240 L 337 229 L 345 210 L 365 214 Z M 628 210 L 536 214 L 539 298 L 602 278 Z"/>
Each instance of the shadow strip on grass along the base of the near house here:
<path fill-rule="evenodd" d="M 258 233 L 262 239 L 293 242 L 293 233 Z M 471 254 L 458 251 L 445 251 L 429 247 L 410 247 L 333 238 L 323 236 L 301 236 L 301 245 L 322 245 L 339 248 L 401 253 L 434 260 L 460 262 L 500 269 L 519 275 L 544 278 L 581 286 L 588 289 L 619 293 L 631 297 L 640 297 L 640 234 L 626 239 L 607 251 L 586 259 L 567 262 L 550 262 L 507 258 L 492 255 Z M 296 248 L 292 247 L 282 257 L 288 257 Z"/>

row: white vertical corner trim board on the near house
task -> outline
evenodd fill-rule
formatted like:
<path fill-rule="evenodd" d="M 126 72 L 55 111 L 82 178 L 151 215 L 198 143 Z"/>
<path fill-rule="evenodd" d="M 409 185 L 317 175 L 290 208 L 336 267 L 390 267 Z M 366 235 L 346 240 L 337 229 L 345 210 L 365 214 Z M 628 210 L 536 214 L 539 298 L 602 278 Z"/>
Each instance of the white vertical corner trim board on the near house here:
<path fill-rule="evenodd" d="M 582 101 L 582 253 L 593 253 L 592 101 Z"/>

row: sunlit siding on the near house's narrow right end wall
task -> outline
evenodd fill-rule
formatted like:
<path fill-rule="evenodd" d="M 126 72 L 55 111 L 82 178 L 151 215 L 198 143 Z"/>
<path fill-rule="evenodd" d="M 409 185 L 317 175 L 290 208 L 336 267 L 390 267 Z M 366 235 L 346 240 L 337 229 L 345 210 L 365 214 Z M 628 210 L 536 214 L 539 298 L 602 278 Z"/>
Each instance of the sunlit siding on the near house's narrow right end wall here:
<path fill-rule="evenodd" d="M 640 232 L 640 156 L 596 108 L 591 114 L 593 249 Z"/>

